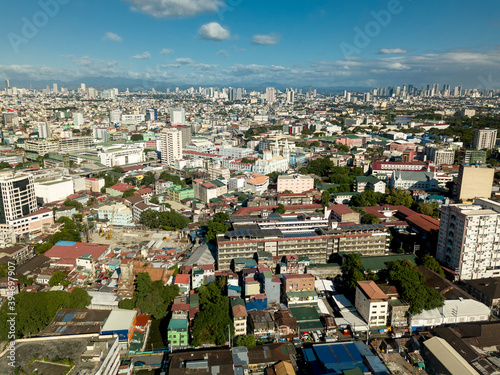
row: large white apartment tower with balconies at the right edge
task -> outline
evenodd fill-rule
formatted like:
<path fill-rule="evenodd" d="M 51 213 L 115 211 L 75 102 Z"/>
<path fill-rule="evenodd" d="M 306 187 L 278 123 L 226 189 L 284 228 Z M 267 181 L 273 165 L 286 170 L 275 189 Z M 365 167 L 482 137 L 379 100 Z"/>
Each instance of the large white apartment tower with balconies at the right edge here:
<path fill-rule="evenodd" d="M 462 280 L 500 276 L 500 204 L 443 206 L 436 259 Z"/>

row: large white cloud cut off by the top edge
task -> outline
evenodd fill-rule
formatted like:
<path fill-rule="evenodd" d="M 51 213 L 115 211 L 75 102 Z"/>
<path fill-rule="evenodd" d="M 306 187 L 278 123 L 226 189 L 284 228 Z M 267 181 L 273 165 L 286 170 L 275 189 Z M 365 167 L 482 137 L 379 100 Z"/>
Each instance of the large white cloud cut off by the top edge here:
<path fill-rule="evenodd" d="M 135 12 L 154 18 L 192 17 L 203 13 L 216 13 L 225 3 L 221 0 L 123 0 Z"/>

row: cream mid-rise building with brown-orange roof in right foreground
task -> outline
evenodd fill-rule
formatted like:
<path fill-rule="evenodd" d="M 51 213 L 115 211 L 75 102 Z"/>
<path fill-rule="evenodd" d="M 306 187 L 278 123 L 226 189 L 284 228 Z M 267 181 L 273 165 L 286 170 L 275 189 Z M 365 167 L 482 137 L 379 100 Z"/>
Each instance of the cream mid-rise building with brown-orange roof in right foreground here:
<path fill-rule="evenodd" d="M 370 327 L 387 325 L 389 316 L 389 297 L 374 281 L 358 281 L 355 306 Z"/>

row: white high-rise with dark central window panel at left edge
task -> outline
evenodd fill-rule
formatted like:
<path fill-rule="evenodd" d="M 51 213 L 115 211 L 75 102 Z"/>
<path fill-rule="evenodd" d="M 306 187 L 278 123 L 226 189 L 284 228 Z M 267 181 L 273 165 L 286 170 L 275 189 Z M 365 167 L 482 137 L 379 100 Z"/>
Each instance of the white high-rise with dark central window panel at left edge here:
<path fill-rule="evenodd" d="M 0 224 L 29 215 L 36 209 L 33 176 L 0 172 Z"/>

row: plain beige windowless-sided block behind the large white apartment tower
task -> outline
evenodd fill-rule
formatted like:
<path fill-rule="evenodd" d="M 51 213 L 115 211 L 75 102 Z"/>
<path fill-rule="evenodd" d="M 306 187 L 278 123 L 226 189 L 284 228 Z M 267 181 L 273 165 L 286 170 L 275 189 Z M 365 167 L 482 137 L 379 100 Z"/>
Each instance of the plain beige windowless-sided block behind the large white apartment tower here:
<path fill-rule="evenodd" d="M 461 164 L 455 182 L 455 198 L 471 201 L 474 198 L 489 198 L 495 169 L 488 165 Z"/>

